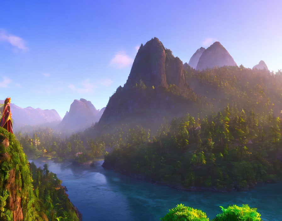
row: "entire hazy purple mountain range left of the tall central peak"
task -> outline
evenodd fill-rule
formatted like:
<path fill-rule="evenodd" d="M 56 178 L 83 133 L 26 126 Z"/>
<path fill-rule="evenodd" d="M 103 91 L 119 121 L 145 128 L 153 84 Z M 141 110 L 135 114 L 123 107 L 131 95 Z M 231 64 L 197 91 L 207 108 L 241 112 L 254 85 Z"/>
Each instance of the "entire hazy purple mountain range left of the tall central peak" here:
<path fill-rule="evenodd" d="M 0 100 L 0 104 L 3 103 L 4 100 Z M 66 112 L 63 119 L 54 109 L 21 108 L 15 104 L 10 104 L 10 107 L 14 131 L 32 131 L 34 126 L 49 126 L 63 132 L 75 132 L 86 129 L 98 122 L 105 110 L 105 107 L 101 110 L 97 110 L 91 101 L 87 101 L 83 98 L 74 100 L 70 105 L 70 111 Z M 0 109 L 0 111 L 2 110 Z"/>

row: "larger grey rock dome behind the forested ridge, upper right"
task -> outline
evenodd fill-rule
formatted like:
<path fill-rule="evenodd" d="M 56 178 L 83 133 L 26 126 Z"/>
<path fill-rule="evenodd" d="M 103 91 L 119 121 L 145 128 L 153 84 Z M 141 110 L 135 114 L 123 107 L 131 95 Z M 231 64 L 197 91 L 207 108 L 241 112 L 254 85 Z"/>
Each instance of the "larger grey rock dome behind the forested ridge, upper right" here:
<path fill-rule="evenodd" d="M 205 51 L 203 51 L 196 70 L 206 70 L 206 68 L 237 66 L 233 57 L 228 51 L 218 42 L 214 42 Z"/>

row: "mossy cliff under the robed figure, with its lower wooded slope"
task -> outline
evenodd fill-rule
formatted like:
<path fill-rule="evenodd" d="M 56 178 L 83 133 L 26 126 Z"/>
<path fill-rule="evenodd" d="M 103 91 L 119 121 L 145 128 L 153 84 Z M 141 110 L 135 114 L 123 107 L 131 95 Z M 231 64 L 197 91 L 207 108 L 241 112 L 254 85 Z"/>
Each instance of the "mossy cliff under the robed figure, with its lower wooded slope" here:
<path fill-rule="evenodd" d="M 38 171 L 41 169 L 36 170 L 37 174 L 40 173 Z M 57 183 L 49 183 L 48 188 L 47 185 L 43 186 L 44 182 L 42 185 L 41 183 L 50 182 L 49 176 L 39 176 L 36 182 L 33 181 L 29 162 L 20 143 L 14 134 L 0 128 L 0 220 L 79 220 L 59 179 L 54 174 L 52 176 L 55 177 L 52 181 Z M 37 184 L 36 189 L 34 184 Z M 54 197 L 60 200 L 61 204 L 55 204 Z M 57 214 L 60 205 L 63 205 L 62 212 L 60 211 L 62 216 Z"/>

